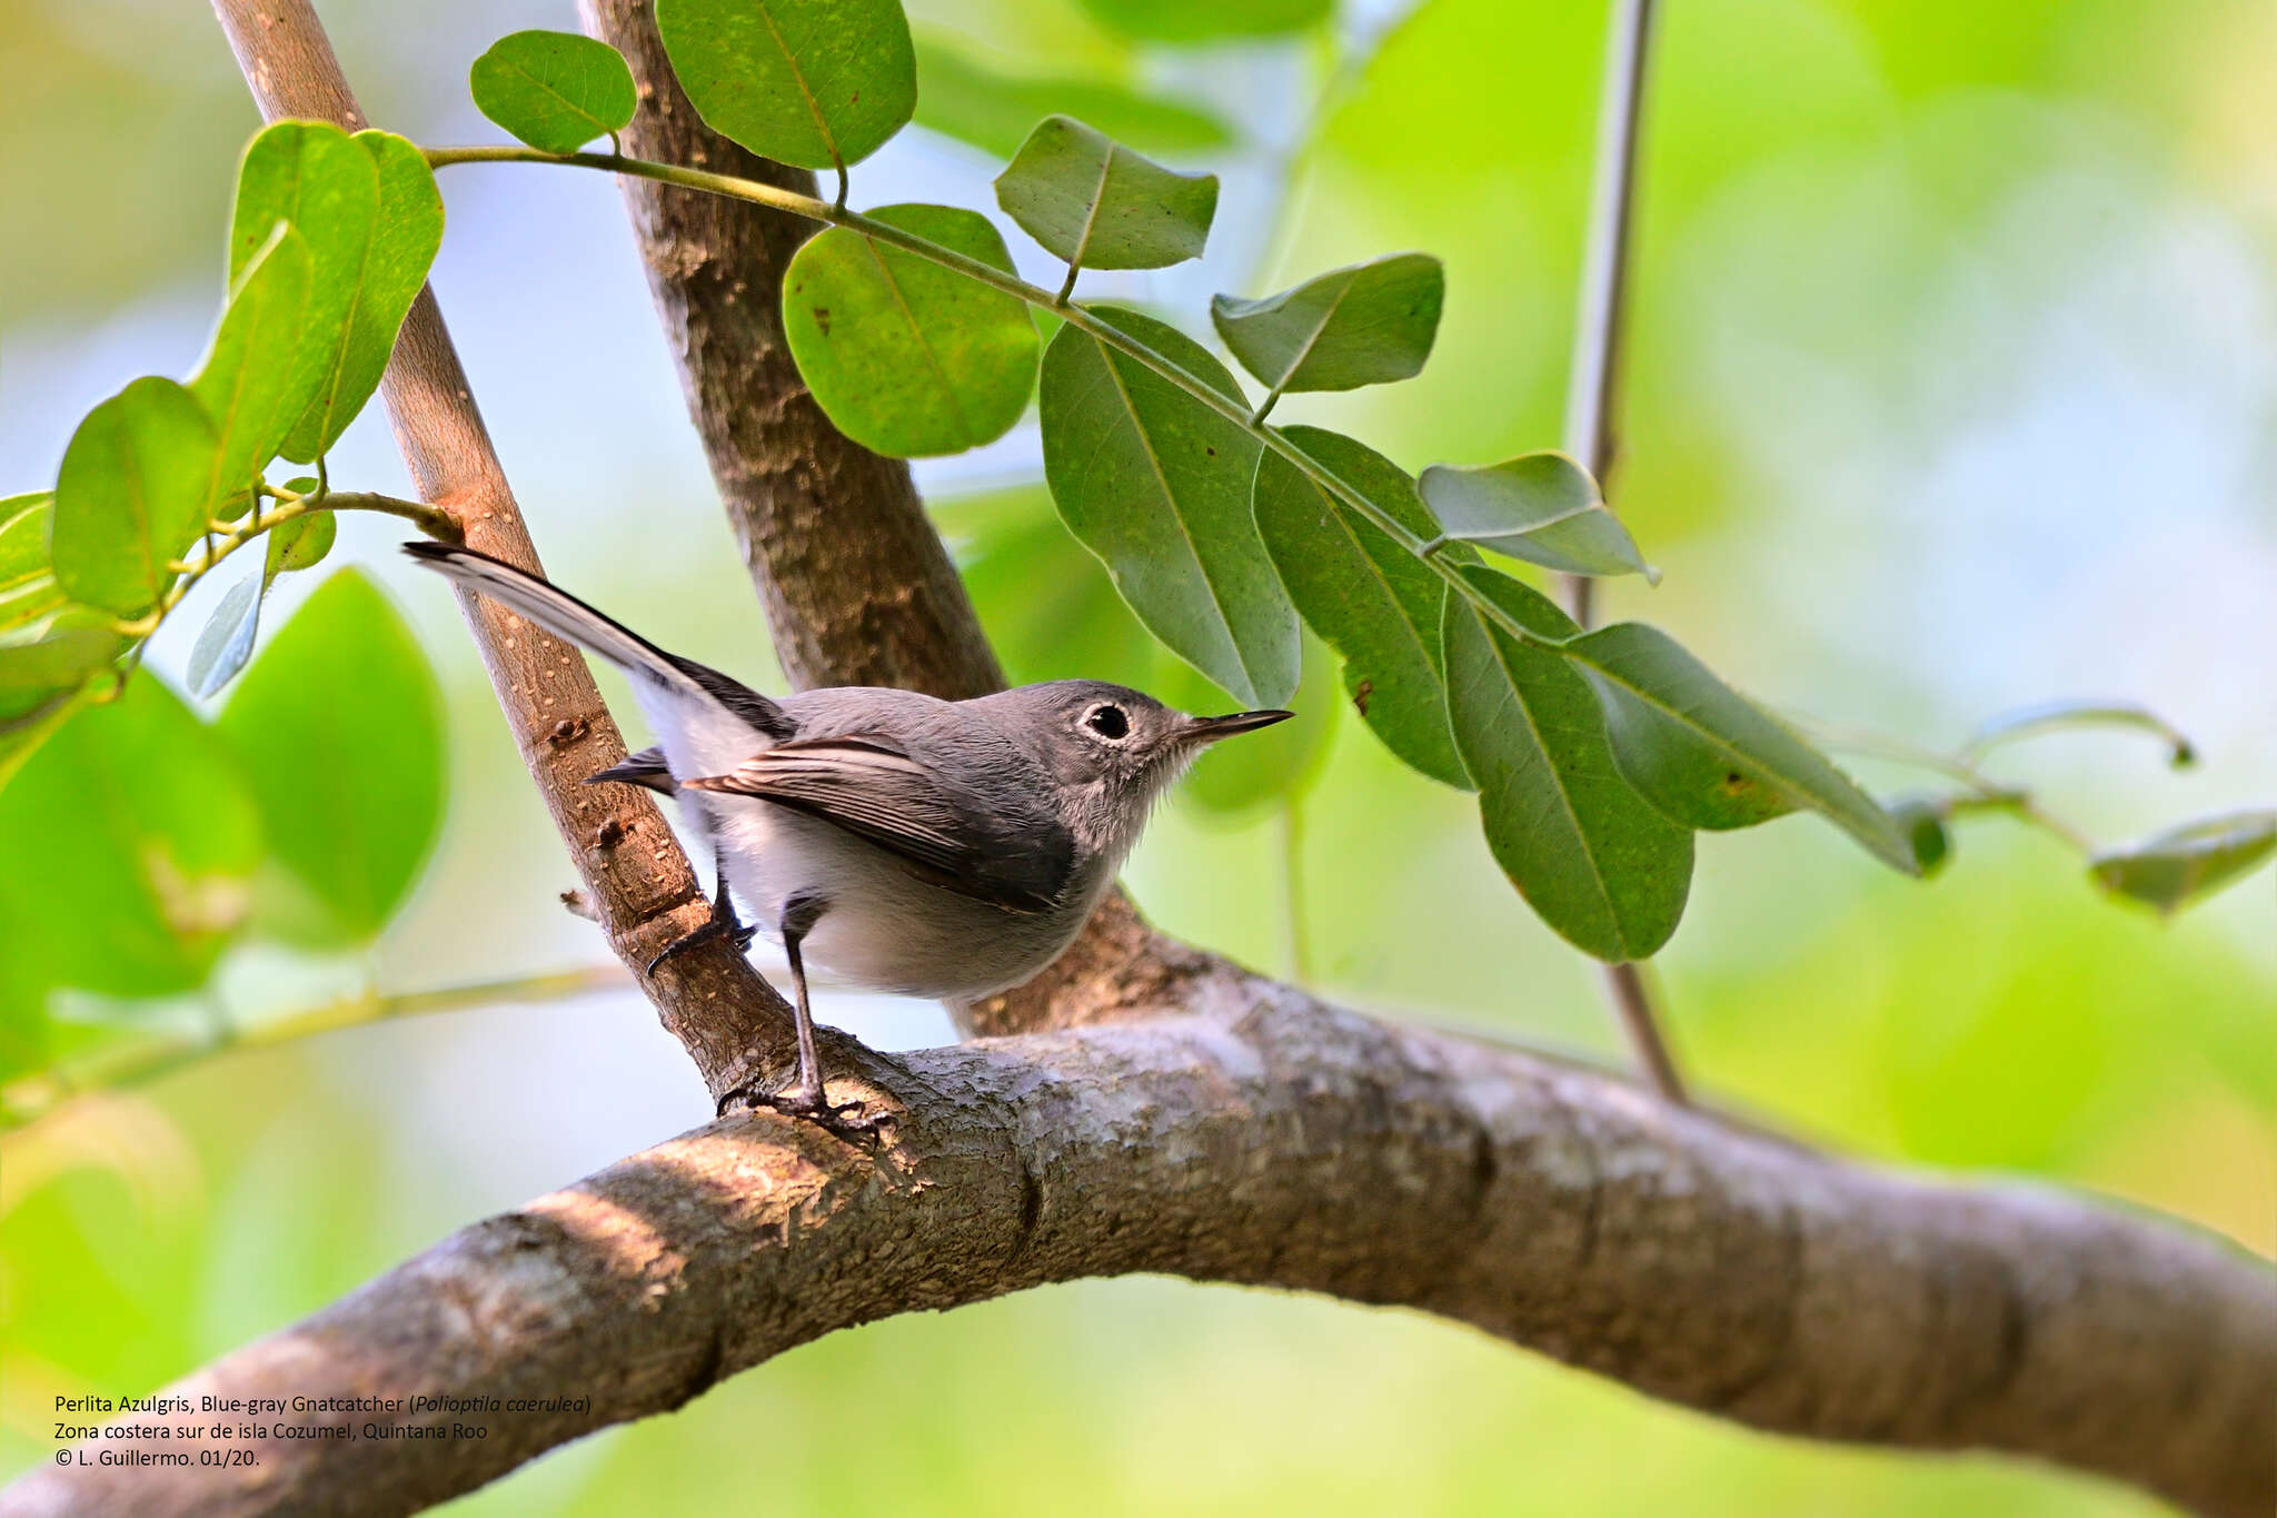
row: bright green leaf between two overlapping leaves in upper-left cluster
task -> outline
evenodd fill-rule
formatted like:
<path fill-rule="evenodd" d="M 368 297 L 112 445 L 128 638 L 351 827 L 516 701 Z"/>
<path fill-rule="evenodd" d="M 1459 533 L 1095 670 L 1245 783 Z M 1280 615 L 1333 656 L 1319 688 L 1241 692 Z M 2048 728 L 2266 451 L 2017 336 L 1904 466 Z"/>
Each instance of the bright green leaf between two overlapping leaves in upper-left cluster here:
<path fill-rule="evenodd" d="M 328 396 L 337 391 L 378 216 L 378 168 L 339 127 L 278 121 L 246 143 L 230 209 L 230 289 L 244 282 L 278 221 L 301 232 L 310 257 L 307 305 L 285 385 L 307 401 L 278 442 L 296 462 L 317 457 L 307 444 L 321 432 Z M 285 355 L 266 360 L 285 362 Z"/>

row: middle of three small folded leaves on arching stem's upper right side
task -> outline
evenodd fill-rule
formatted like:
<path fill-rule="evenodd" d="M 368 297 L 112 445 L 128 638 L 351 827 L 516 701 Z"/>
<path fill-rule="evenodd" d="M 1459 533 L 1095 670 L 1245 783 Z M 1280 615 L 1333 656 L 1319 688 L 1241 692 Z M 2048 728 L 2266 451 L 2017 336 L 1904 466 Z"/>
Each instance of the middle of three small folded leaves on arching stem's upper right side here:
<path fill-rule="evenodd" d="M 1423 371 L 1444 298 L 1439 259 L 1396 253 L 1264 300 L 1211 296 L 1209 319 L 1241 366 L 1275 391 L 1359 389 Z"/>

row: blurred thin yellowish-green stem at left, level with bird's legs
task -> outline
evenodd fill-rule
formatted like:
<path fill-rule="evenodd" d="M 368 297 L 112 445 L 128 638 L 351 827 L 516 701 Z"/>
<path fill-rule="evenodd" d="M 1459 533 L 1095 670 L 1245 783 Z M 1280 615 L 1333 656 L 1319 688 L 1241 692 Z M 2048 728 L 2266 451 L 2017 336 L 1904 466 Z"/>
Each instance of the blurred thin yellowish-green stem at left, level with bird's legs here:
<path fill-rule="evenodd" d="M 98 1051 L 82 1061 L 52 1065 L 36 1074 L 9 1081 L 0 1088 L 0 1129 L 20 1129 L 89 1092 L 143 1086 L 216 1054 L 230 1054 L 237 1049 L 273 1049 L 278 1045 L 314 1038 L 317 1033 L 332 1033 L 337 1029 L 360 1029 L 373 1022 L 426 1017 L 430 1013 L 460 1013 L 480 1006 L 496 1006 L 501 1001 L 567 1001 L 572 997 L 585 997 L 617 985 L 631 985 L 631 979 L 622 967 L 594 965 L 587 970 L 517 976 L 510 981 L 478 981 L 474 985 L 414 990 L 394 997 L 364 990 L 255 1026 L 237 1026 L 225 1017 L 209 1017 L 200 1038 L 137 1040 L 123 1049 Z"/>

